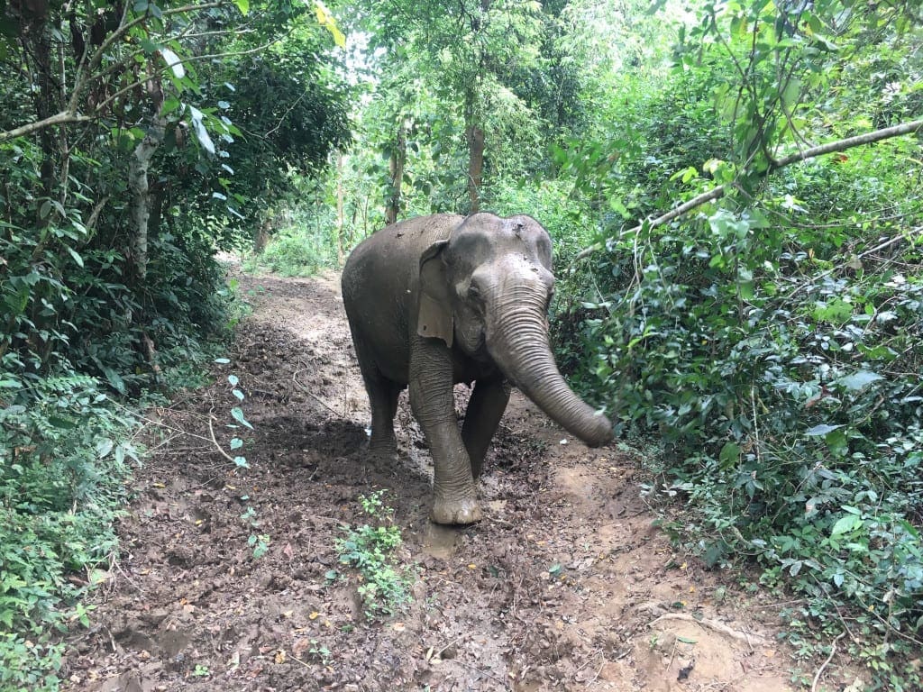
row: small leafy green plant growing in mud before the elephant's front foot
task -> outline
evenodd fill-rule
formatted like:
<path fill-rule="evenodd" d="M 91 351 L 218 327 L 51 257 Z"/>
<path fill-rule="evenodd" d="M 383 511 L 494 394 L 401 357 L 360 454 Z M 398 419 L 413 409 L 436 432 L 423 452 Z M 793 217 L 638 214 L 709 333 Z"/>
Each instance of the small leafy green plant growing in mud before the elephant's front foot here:
<path fill-rule="evenodd" d="M 411 600 L 411 574 L 398 565 L 395 555 L 402 543 L 401 530 L 392 523 L 394 509 L 384 501 L 386 492 L 359 496 L 363 511 L 377 526 L 343 527 L 345 536 L 337 543 L 340 562 L 359 573 L 359 595 L 369 618 L 395 614 Z"/>

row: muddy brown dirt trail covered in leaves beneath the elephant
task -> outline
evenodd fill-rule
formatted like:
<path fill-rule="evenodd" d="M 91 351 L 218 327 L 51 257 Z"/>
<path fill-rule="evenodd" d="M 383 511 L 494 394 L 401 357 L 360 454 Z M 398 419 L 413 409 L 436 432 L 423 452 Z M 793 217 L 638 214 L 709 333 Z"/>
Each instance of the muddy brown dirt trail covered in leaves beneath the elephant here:
<path fill-rule="evenodd" d="M 151 413 L 153 457 L 94 626 L 69 642 L 67 689 L 789 689 L 777 609 L 671 548 L 637 459 L 583 447 L 514 392 L 480 483 L 486 519 L 433 527 L 406 395 L 401 460 L 364 459 L 367 401 L 337 277 L 240 280 L 255 310 L 232 363 Z M 225 426 L 238 403 L 246 435 Z M 231 437 L 245 438 L 249 470 L 212 430 L 232 456 Z M 417 579 L 405 612 L 370 622 L 336 543 L 378 488 Z M 268 550 L 255 558 L 259 536 Z"/>

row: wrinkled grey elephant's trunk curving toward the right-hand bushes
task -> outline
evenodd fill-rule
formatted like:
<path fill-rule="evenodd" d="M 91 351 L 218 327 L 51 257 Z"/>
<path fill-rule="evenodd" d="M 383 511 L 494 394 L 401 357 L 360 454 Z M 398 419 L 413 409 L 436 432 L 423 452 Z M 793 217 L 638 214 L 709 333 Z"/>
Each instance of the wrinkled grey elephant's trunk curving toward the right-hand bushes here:
<path fill-rule="evenodd" d="M 583 402 L 557 370 L 548 342 L 544 287 L 508 287 L 488 318 L 487 350 L 503 374 L 552 420 L 590 447 L 612 439 L 612 424 Z"/>

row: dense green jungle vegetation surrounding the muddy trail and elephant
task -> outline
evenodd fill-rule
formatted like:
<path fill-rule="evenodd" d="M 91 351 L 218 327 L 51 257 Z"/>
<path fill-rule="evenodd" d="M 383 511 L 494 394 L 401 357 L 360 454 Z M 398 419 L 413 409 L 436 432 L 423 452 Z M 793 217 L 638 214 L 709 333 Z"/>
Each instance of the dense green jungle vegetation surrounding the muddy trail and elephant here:
<path fill-rule="evenodd" d="M 216 251 L 476 209 L 555 238 L 558 361 L 665 530 L 921 685 L 917 2 L 0 0 L 0 102 L 0 689 L 92 618 L 138 412 L 240 314 Z"/>

